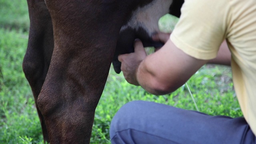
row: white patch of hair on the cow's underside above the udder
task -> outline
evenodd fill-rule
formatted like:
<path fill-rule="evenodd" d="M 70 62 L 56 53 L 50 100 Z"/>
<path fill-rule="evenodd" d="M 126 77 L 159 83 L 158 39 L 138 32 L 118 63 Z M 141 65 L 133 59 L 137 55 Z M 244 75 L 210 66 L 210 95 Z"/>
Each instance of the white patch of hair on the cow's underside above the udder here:
<path fill-rule="evenodd" d="M 153 0 L 151 3 L 138 7 L 132 12 L 132 16 L 127 24 L 122 26 L 120 32 L 127 28 L 135 29 L 144 28 L 148 36 L 159 32 L 158 20 L 169 12 L 172 0 Z"/>

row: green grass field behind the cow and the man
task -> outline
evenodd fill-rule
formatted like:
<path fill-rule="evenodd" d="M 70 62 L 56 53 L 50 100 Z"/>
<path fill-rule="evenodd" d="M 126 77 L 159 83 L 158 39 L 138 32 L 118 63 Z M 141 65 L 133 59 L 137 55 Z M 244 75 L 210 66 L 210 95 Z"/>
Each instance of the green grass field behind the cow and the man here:
<path fill-rule="evenodd" d="M 161 20 L 160 26 L 170 31 L 175 22 L 176 20 L 166 16 Z M 22 72 L 28 26 L 25 0 L 0 0 L 0 144 L 43 143 L 32 92 Z M 206 65 L 187 83 L 200 112 L 242 116 L 229 67 Z M 154 101 L 196 110 L 185 85 L 172 94 L 154 96 L 141 87 L 128 84 L 122 74 L 115 74 L 111 68 L 96 109 L 92 144 L 110 143 L 109 126 L 112 117 L 122 105 L 132 100 Z"/>

